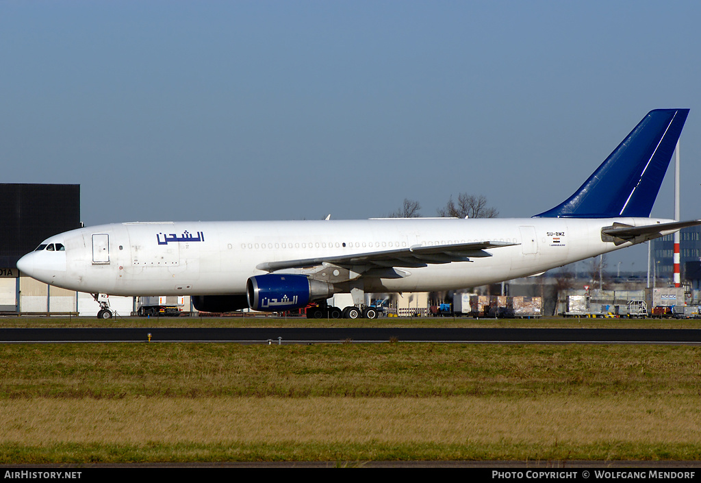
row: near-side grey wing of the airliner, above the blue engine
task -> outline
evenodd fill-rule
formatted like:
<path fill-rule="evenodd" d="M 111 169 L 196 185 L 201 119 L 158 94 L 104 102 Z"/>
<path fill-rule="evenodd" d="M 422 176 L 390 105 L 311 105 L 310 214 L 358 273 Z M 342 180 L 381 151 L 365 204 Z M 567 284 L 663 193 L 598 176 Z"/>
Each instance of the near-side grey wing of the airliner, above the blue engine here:
<path fill-rule="evenodd" d="M 508 241 L 475 241 L 472 243 L 437 246 L 414 245 L 408 249 L 266 262 L 257 265 L 256 268 L 258 270 L 266 270 L 266 272 L 275 272 L 275 270 L 287 268 L 315 267 L 324 263 L 349 268 L 358 265 L 374 265 L 376 267 L 426 267 L 426 265 L 432 263 L 469 262 L 470 258 L 489 257 L 491 253 L 484 250 L 498 249 L 503 246 L 513 245 L 518 244 Z"/>

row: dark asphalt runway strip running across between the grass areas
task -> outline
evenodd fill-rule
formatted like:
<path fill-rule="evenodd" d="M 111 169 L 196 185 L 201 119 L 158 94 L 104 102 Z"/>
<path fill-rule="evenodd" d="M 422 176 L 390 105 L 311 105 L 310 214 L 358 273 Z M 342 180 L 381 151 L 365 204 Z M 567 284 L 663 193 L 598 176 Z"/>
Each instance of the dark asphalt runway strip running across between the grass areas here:
<path fill-rule="evenodd" d="M 0 329 L 0 343 L 230 342 L 701 345 L 701 329 L 129 328 Z"/>

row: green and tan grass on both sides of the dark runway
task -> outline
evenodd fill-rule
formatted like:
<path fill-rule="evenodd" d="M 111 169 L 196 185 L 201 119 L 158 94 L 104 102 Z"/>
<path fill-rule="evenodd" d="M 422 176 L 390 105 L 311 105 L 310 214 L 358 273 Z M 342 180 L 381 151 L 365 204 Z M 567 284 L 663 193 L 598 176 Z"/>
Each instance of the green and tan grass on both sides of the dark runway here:
<path fill-rule="evenodd" d="M 0 327 L 8 326 L 5 320 Z M 148 325 L 188 319 L 163 320 Z M 257 321 L 300 322 L 307 323 Z M 187 325 L 232 323 L 240 321 L 189 319 Z M 383 323 L 397 324 L 376 322 Z M 607 319 L 537 323 L 612 326 Z M 0 463 L 699 460 L 700 351 L 666 345 L 0 345 Z"/>

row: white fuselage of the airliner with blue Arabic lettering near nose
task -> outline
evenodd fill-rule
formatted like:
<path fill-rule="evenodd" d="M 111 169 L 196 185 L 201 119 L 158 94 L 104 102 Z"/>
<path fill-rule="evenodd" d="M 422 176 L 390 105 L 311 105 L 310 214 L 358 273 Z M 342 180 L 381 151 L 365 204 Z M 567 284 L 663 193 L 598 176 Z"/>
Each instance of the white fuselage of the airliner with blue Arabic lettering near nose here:
<path fill-rule="evenodd" d="M 602 241 L 613 223 L 669 223 L 652 218 L 410 218 L 255 222 L 123 223 L 81 228 L 44 244 L 18 267 L 65 289 L 121 296 L 243 294 L 257 265 L 472 241 L 515 246 L 487 249 L 469 262 L 402 268 L 402 277 L 362 277 L 365 291 L 438 291 L 545 272 L 630 246 Z M 301 272 L 299 269 L 286 272 Z"/>

